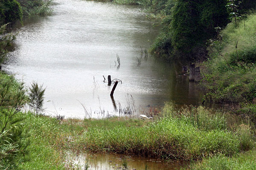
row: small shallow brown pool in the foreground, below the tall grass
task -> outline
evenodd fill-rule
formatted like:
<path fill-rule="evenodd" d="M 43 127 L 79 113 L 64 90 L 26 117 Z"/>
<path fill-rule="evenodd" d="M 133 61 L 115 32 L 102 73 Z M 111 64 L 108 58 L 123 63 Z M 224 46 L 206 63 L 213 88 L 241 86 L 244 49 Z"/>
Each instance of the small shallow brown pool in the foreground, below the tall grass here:
<path fill-rule="evenodd" d="M 68 155 L 67 160 L 69 160 L 69 163 L 67 164 L 82 168 L 88 166 L 88 170 L 122 170 L 125 169 L 125 163 L 127 163 L 126 170 L 145 170 L 145 167 L 148 167 L 147 170 L 178 170 L 182 166 L 182 164 L 158 159 L 146 159 L 120 154 L 69 153 Z"/>

